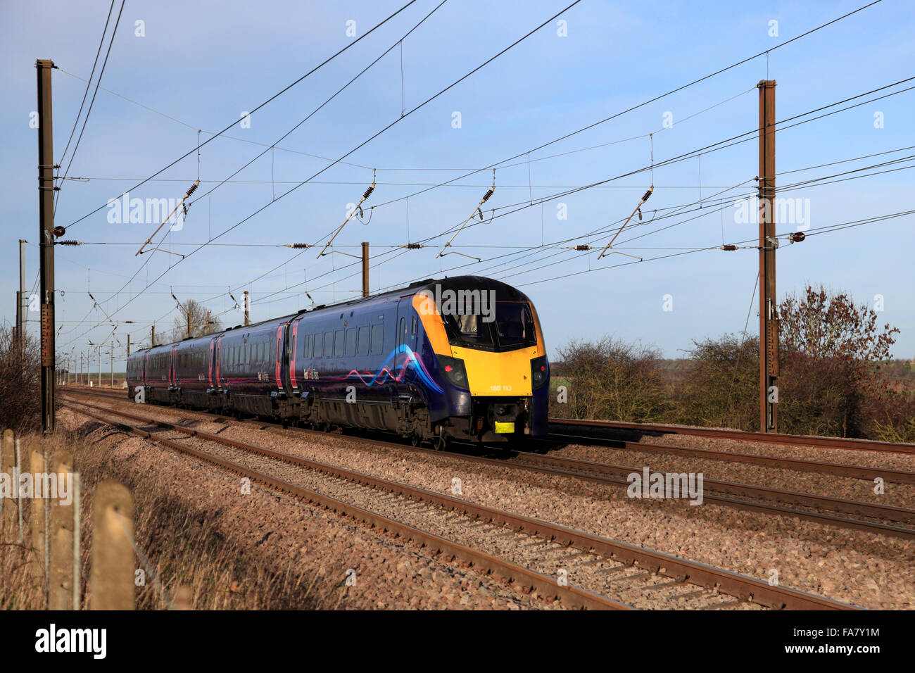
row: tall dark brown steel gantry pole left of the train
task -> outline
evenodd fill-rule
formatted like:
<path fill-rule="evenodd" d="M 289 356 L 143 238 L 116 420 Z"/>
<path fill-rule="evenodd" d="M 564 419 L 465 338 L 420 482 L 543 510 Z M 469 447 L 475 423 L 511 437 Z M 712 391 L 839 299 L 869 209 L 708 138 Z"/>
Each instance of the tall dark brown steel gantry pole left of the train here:
<path fill-rule="evenodd" d="M 41 277 L 41 431 L 54 431 L 54 146 L 51 125 L 51 69 L 38 71 L 38 250 Z"/>

